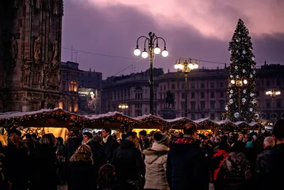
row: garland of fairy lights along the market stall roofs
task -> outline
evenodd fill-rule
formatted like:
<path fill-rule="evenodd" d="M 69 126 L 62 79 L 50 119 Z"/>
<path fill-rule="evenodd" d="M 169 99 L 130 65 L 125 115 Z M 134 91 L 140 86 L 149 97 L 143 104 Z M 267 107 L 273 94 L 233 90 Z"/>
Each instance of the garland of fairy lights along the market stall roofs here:
<path fill-rule="evenodd" d="M 194 122 L 192 120 L 189 120 L 187 118 L 181 118 L 180 120 L 175 121 L 166 121 L 163 120 L 160 117 L 156 116 L 148 116 L 144 117 L 141 120 L 136 120 L 135 118 L 128 117 L 126 115 L 122 114 L 116 114 L 112 116 L 105 116 L 100 117 L 97 119 L 88 119 L 87 117 L 81 116 L 81 115 L 75 115 L 70 112 L 65 112 L 64 110 L 50 110 L 48 112 L 42 112 L 38 114 L 33 115 L 24 115 L 21 117 L 11 117 L 11 118 L 4 118 L 0 119 L 0 125 L 6 126 L 6 127 L 16 127 L 17 125 L 23 124 L 23 122 L 34 122 L 35 120 L 47 120 L 48 118 L 57 119 L 59 121 L 66 122 L 67 128 L 70 130 L 77 129 L 84 129 L 85 127 L 92 127 L 96 128 L 97 123 L 101 123 L 103 126 L 106 122 L 109 122 L 111 125 L 118 124 L 119 130 L 121 132 L 126 132 L 129 130 L 133 130 L 133 128 L 138 128 L 139 126 L 145 126 L 145 125 L 155 125 L 160 126 L 160 130 L 170 130 L 170 129 L 178 129 L 185 125 L 188 122 Z M 212 127 L 212 129 L 224 129 L 226 127 L 229 127 L 230 129 L 256 129 L 259 127 L 262 127 L 261 124 L 256 123 L 256 125 L 249 125 L 246 122 L 241 122 L 239 124 L 233 123 L 233 122 L 225 122 L 222 124 L 218 124 L 217 122 L 212 122 L 210 120 L 204 120 L 201 122 L 194 122 L 197 125 L 197 128 L 204 128 L 206 126 Z M 52 125 L 52 124 L 50 124 Z M 115 125 L 113 125 L 115 126 Z"/>

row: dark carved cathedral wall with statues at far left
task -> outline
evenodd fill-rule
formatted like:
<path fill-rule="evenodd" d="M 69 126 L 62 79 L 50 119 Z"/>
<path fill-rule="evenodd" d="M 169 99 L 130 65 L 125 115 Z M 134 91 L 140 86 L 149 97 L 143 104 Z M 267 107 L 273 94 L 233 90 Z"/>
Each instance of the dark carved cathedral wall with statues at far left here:
<path fill-rule="evenodd" d="M 1 112 L 58 107 L 62 0 L 0 2 Z"/>

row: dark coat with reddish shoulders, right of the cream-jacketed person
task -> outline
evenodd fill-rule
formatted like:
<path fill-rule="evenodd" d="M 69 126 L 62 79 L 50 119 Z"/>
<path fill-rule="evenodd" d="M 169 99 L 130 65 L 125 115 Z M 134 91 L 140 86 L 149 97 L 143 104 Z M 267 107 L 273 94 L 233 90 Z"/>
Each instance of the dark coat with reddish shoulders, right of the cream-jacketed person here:
<path fill-rule="evenodd" d="M 207 159 L 189 135 L 173 139 L 168 153 L 167 179 L 172 190 L 203 190 L 208 181 Z M 207 186 L 208 189 L 208 186 Z"/>

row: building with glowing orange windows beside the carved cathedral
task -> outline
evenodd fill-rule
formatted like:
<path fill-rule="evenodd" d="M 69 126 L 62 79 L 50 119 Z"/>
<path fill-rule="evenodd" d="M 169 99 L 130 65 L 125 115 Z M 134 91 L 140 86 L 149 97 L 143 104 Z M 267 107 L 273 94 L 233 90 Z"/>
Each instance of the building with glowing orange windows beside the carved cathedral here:
<path fill-rule="evenodd" d="M 80 75 L 84 72 L 79 69 L 79 63 L 67 61 L 61 63 L 61 91 L 62 98 L 59 107 L 69 112 L 78 111 Z"/>

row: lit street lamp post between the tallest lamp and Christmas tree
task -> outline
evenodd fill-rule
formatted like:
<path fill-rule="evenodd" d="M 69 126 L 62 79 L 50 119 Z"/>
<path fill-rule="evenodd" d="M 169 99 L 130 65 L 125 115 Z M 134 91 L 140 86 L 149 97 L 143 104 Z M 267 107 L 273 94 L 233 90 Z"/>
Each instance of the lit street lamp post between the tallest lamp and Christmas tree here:
<path fill-rule="evenodd" d="M 187 117 L 187 75 L 191 70 L 197 69 L 198 64 L 192 59 L 180 58 L 175 62 L 175 69 L 182 70 L 182 73 L 185 73 L 185 117 Z"/>

